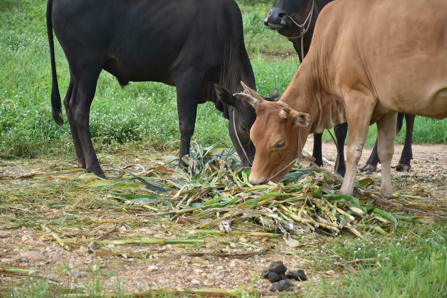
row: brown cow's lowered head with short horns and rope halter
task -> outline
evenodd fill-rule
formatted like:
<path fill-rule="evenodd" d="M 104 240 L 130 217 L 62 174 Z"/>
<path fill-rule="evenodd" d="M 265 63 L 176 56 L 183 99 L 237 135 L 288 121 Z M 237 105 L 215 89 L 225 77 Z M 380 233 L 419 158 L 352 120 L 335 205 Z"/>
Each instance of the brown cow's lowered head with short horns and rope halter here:
<path fill-rule="evenodd" d="M 269 180 L 276 183 L 289 172 L 293 160 L 298 157 L 298 134 L 304 146 L 310 130 L 307 127 L 310 115 L 299 113 L 282 101 L 265 101 L 257 92 L 242 85 L 246 93 L 234 96 L 247 101 L 256 110 L 256 121 L 250 131 L 256 155 L 249 182 L 253 185 Z M 290 165 L 286 167 L 287 164 Z"/>

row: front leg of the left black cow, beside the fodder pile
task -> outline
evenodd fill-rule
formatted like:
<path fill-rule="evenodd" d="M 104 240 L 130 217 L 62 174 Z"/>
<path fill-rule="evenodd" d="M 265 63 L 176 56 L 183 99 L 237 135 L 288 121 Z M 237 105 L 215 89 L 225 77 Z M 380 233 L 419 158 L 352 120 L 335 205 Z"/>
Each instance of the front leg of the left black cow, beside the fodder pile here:
<path fill-rule="evenodd" d="M 194 134 L 200 84 L 201 80 L 198 79 L 196 73 L 188 73 L 175 78 L 178 126 L 180 128 L 179 164 L 184 167 L 186 167 L 186 164 L 182 157 L 190 154 L 190 143 Z"/>

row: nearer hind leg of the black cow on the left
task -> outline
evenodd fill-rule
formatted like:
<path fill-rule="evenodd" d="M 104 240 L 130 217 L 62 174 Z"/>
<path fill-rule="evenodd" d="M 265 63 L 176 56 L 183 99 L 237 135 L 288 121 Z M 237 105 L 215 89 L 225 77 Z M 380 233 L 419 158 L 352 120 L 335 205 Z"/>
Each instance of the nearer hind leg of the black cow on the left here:
<path fill-rule="evenodd" d="M 90 105 L 95 95 L 100 72 L 101 68 L 83 70 L 82 73 L 75 74 L 73 95 L 68 103 L 68 113 L 70 113 L 71 118 L 70 127 L 72 127 L 72 124 L 76 126 L 77 136 L 79 137 L 82 152 L 84 153 L 85 168 L 89 172 L 105 178 L 93 149 L 89 130 Z M 73 134 L 74 136 L 76 136 L 76 132 Z"/>

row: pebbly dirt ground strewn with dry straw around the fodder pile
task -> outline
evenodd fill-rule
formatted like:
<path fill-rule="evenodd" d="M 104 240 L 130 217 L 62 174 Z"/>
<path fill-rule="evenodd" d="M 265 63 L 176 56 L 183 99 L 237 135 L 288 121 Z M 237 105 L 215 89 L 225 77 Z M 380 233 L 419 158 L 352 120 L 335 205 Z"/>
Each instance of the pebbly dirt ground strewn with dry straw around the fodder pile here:
<path fill-rule="evenodd" d="M 312 139 L 306 147 L 312 149 Z M 396 146 L 393 165 L 397 164 L 401 150 L 402 146 Z M 370 149 L 363 151 L 360 164 L 367 160 L 370 153 Z M 393 169 L 392 176 L 401 176 L 403 179 L 398 179 L 398 183 L 416 188 L 416 193 L 422 183 L 424 189 L 420 192 L 428 193 L 428 196 L 424 195 L 425 203 L 445 206 L 446 154 L 447 145 L 413 145 L 414 159 L 410 172 L 396 172 Z M 160 155 L 153 153 L 131 152 L 126 154 L 126 158 L 105 154 L 99 156 L 105 168 L 135 163 L 151 168 L 160 164 L 160 160 L 163 162 Z M 323 145 L 323 156 L 329 161 L 335 161 L 334 144 Z M 107 239 L 109 234 L 109 239 L 148 236 L 154 239 L 177 239 L 185 235 L 197 239 L 198 235 L 185 231 L 185 225 L 169 221 L 169 217 L 136 218 L 135 213 L 141 213 L 141 210 L 135 211 L 130 206 L 115 206 L 101 190 L 80 188 L 78 180 L 68 181 L 69 185 L 66 181 L 52 179 L 5 180 L 8 176 L 26 175 L 30 172 L 71 169 L 74 168 L 74 163 L 74 160 L 67 159 L 0 160 L 0 177 L 3 175 L 4 179 L 0 180 L 0 196 L 3 195 L 4 200 L 11 204 L 17 200 L 28 200 L 25 213 L 19 210 L 16 212 L 14 208 L 17 207 L 4 208 L 1 211 L 3 214 L 0 214 L 0 218 L 17 216 L 17 225 L 13 228 L 5 225 L 4 230 L 0 230 L 0 268 L 11 266 L 34 269 L 39 276 L 50 277 L 50 283 L 60 283 L 71 289 L 89 288 L 93 277 L 99 276 L 102 289 L 113 291 L 118 287 L 119 277 L 122 292 L 149 288 L 213 288 L 251 289 L 269 295 L 271 284 L 259 278 L 259 274 L 268 267 L 271 260 L 282 260 L 289 270 L 304 269 L 307 273 L 307 283 L 294 282 L 295 293 L 305 291 L 309 283 L 321 279 L 337 281 L 338 275 L 328 271 L 332 269 L 330 265 L 314 266 L 308 258 L 312 251 L 320 249 L 322 240 L 333 241 L 330 238 L 303 239 L 304 246 L 299 248 L 291 248 L 283 242 L 254 235 L 199 235 L 204 240 L 202 244 L 111 244 L 96 248 L 93 242 Z M 330 165 L 326 167 L 332 168 Z M 373 175 L 377 177 L 380 173 Z M 416 183 L 420 185 L 417 186 Z M 393 187 L 400 186 L 393 184 Z M 68 214 L 65 215 L 66 218 L 61 215 L 64 212 Z M 70 216 L 75 212 L 80 214 L 77 219 Z M 21 216 L 24 218 L 20 218 Z M 28 218 L 33 218 L 35 222 Z M 41 221 L 34 218 L 40 218 Z M 48 221 L 47 228 L 42 227 L 45 218 Z M 66 222 L 61 223 L 63 220 Z M 85 221 L 85 224 L 76 221 Z M 1 225 L 0 223 L 0 229 Z M 56 226 L 58 230 L 55 230 Z M 111 231 L 113 229 L 115 230 Z M 61 248 L 53 232 L 71 237 L 69 250 Z M 28 251 L 37 252 L 39 256 L 26 259 L 23 254 Z M 17 277 L 0 274 L 0 281 L 4 285 L 10 284 L 11 278 L 20 286 L 21 281 Z M 0 294 L 5 289 L 0 287 Z"/>

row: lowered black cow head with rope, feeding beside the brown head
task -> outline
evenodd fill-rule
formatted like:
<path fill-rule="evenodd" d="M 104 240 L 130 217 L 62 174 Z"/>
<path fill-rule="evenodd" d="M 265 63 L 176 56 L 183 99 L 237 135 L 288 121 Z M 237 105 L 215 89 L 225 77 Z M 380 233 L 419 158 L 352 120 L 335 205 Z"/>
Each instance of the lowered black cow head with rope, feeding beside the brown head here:
<path fill-rule="evenodd" d="M 251 105 L 249 105 L 245 101 L 242 101 L 239 97 L 234 97 L 233 93 L 230 92 L 227 88 L 219 84 L 215 84 L 214 86 L 219 101 L 231 107 L 231 114 L 228 122 L 228 132 L 230 134 L 230 138 L 233 142 L 234 148 L 236 149 L 236 152 L 240 157 L 240 164 L 244 167 L 250 167 L 251 163 L 253 163 L 255 154 L 255 147 L 250 140 L 250 129 L 256 120 L 255 110 Z M 275 89 L 270 97 L 264 97 L 264 99 L 267 101 L 278 101 L 278 96 L 279 90 Z M 239 143 L 242 145 L 242 147 L 244 147 L 245 153 L 247 154 L 249 160 L 245 158 L 244 151 L 241 149 Z"/>

